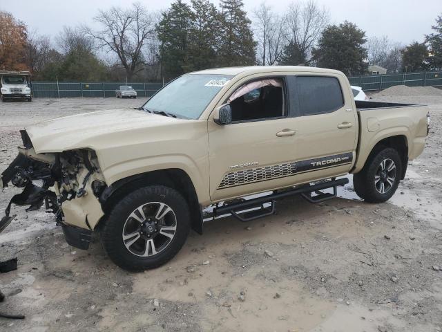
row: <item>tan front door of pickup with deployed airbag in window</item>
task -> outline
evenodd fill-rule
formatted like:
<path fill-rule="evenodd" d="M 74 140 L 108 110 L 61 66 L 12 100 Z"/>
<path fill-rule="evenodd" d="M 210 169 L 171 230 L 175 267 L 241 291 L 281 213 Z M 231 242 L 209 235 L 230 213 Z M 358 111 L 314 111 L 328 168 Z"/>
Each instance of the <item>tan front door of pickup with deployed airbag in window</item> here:
<path fill-rule="evenodd" d="M 240 96 L 239 101 L 231 101 L 231 124 L 216 124 L 213 113 L 209 118 L 212 201 L 265 192 L 293 181 L 289 174 L 292 167 L 290 162 L 296 159 L 297 154 L 294 135 L 296 119 L 288 114 L 285 78 L 270 75 L 253 77 L 252 80 L 275 78 L 282 82 L 282 86 L 262 87 L 259 93 L 253 89 Z M 229 95 L 249 81 L 239 82 Z M 258 118 L 254 116 L 256 114 L 259 114 Z"/>

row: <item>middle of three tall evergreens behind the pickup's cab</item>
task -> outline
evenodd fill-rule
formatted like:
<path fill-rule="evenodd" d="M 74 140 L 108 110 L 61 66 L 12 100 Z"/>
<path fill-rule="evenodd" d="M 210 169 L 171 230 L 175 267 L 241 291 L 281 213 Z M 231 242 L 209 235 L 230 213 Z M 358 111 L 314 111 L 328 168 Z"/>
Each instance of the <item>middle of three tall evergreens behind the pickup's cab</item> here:
<path fill-rule="evenodd" d="M 193 22 L 189 39 L 189 71 L 215 66 L 218 10 L 209 0 L 191 0 Z"/>

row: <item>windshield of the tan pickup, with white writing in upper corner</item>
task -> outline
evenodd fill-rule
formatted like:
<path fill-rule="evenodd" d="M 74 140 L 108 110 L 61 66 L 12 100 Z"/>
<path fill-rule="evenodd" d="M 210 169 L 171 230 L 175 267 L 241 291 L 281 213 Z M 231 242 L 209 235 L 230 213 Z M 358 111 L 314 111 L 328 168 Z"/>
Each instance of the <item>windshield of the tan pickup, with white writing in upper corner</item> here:
<path fill-rule="evenodd" d="M 155 93 L 143 109 L 180 118 L 197 119 L 209 102 L 229 82 L 230 75 L 186 74 Z"/>

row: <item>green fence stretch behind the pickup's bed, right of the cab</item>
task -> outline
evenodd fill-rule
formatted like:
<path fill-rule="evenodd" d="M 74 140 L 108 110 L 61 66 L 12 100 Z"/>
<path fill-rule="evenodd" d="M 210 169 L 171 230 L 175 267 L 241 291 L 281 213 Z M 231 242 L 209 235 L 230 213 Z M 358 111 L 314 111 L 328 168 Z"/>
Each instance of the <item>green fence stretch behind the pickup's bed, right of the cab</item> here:
<path fill-rule="evenodd" d="M 392 75 L 369 75 L 349 77 L 350 84 L 361 86 L 365 91 L 383 90 L 394 85 L 442 86 L 442 71 L 401 73 Z"/>

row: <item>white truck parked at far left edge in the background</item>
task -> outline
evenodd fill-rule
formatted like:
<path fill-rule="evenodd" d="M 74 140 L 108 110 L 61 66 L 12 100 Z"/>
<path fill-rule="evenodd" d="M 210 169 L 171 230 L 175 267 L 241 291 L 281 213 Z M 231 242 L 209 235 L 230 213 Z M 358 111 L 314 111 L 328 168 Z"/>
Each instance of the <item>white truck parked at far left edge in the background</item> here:
<path fill-rule="evenodd" d="M 21 99 L 32 101 L 30 72 L 0 71 L 1 100 Z"/>

